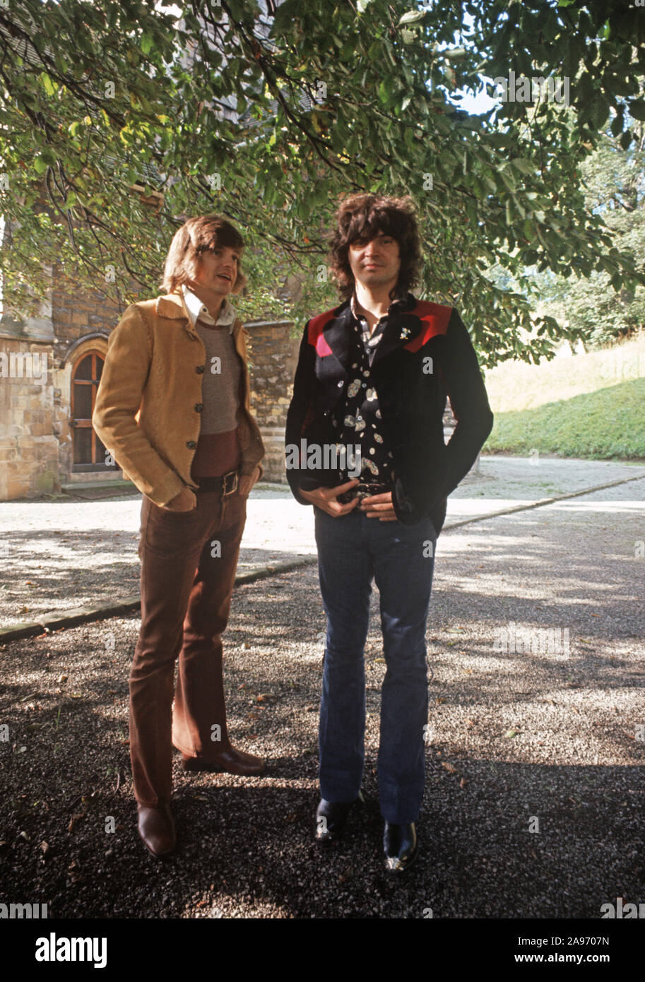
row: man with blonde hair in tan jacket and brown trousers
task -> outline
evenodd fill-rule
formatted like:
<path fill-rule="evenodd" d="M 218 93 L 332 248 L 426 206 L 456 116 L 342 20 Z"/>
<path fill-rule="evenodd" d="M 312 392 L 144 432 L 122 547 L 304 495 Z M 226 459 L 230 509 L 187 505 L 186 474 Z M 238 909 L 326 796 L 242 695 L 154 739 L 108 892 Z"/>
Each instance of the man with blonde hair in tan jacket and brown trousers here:
<path fill-rule="evenodd" d="M 246 497 L 264 456 L 242 321 L 228 299 L 246 282 L 243 245 L 218 215 L 177 231 L 165 296 L 129 306 L 110 335 L 92 418 L 143 495 L 130 752 L 138 832 L 155 856 L 176 845 L 172 744 L 188 771 L 264 767 L 231 745 L 222 680 Z"/>

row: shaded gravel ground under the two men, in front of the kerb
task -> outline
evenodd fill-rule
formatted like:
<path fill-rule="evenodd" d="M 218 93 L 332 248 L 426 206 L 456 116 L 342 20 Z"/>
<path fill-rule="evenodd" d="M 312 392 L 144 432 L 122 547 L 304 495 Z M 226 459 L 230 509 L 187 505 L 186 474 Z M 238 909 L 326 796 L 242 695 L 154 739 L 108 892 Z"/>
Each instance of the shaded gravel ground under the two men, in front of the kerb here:
<path fill-rule="evenodd" d="M 315 568 L 236 590 L 230 729 L 269 771 L 188 776 L 176 757 L 180 843 L 164 863 L 135 831 L 127 677 L 137 618 L 8 643 L 0 902 L 83 918 L 419 918 L 430 907 L 435 918 L 593 919 L 618 897 L 643 902 L 644 499 L 645 480 L 633 481 L 440 536 L 421 853 L 396 882 L 379 851 L 376 591 L 367 803 L 329 851 L 312 843 L 324 630 Z M 100 506 L 106 538 L 104 506 L 117 504 Z M 569 657 L 496 650 L 511 623 L 567 629 Z"/>

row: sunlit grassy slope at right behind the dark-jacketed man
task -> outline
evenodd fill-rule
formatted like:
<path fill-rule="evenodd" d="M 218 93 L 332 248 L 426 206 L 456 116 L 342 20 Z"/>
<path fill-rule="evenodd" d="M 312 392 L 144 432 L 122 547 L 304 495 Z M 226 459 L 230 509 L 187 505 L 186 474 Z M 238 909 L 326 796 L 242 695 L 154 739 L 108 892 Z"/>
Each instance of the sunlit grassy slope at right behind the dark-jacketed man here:
<path fill-rule="evenodd" d="M 495 425 L 485 453 L 645 460 L 645 338 L 541 365 L 506 363 L 486 373 L 486 388 Z"/>

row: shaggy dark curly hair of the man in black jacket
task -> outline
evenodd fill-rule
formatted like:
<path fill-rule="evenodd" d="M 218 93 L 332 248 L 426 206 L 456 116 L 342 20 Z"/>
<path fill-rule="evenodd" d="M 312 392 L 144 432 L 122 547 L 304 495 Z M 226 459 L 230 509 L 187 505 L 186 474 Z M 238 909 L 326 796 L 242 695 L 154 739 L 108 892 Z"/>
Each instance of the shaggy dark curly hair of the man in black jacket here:
<path fill-rule="evenodd" d="M 373 239 L 379 232 L 399 243 L 401 269 L 390 296 L 407 293 L 419 281 L 421 243 L 414 202 L 409 194 L 386 197 L 382 194 L 350 194 L 336 212 L 337 229 L 329 237 L 330 266 L 344 300 L 354 288 L 349 265 L 349 246 L 356 239 Z"/>

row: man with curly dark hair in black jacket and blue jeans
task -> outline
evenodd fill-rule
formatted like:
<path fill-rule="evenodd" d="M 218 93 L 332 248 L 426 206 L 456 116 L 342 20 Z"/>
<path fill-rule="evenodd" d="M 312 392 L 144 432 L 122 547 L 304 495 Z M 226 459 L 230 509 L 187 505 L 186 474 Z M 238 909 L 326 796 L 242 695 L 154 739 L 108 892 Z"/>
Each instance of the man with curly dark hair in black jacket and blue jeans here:
<path fill-rule="evenodd" d="M 331 266 L 343 302 L 309 320 L 287 418 L 287 473 L 313 505 L 327 638 L 316 840 L 342 835 L 364 765 L 364 646 L 372 580 L 387 671 L 378 783 L 386 869 L 417 853 L 428 688 L 425 627 L 448 495 L 491 431 L 477 357 L 454 307 L 416 300 L 421 250 L 409 197 L 354 194 Z M 450 396 L 457 427 L 444 443 Z"/>

